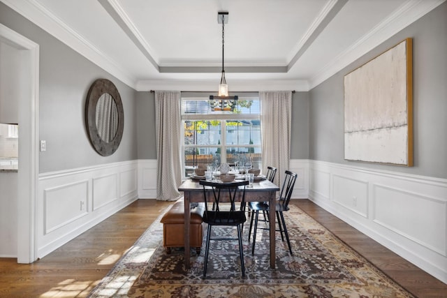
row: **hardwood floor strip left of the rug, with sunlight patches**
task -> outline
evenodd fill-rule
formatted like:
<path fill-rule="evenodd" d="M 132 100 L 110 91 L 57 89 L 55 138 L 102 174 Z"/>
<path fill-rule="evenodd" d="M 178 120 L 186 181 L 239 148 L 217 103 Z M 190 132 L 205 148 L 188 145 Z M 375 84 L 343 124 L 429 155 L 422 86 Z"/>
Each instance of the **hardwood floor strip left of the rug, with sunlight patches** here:
<path fill-rule="evenodd" d="M 0 259 L 0 297 L 86 297 L 172 203 L 137 200 L 31 265 Z"/>

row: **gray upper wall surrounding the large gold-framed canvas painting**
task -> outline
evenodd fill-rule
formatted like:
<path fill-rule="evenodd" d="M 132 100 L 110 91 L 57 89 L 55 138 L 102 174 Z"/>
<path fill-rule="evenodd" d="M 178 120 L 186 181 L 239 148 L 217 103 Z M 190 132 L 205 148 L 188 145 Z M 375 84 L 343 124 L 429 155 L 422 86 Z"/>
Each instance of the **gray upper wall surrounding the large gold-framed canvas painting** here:
<path fill-rule="evenodd" d="M 414 166 L 344 161 L 344 75 L 405 38 L 413 38 Z M 447 178 L 447 3 L 312 89 L 309 99 L 311 159 Z"/>

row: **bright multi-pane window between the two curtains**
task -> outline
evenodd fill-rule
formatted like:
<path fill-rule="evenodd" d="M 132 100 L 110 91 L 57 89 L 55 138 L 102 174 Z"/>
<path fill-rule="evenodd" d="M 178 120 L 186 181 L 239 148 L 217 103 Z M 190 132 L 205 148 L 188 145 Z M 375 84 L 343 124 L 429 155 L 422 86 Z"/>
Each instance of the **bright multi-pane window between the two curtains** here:
<path fill-rule="evenodd" d="M 249 160 L 261 168 L 261 107 L 258 96 L 240 96 L 235 109 L 208 98 L 182 97 L 182 154 L 185 176 L 198 165 L 237 165 Z"/>

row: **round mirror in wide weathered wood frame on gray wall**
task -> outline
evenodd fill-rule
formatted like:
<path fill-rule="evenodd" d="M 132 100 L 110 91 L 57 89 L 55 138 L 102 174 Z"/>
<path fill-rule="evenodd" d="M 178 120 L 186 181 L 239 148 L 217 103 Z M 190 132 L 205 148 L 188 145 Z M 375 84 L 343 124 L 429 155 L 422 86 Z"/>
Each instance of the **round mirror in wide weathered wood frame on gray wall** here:
<path fill-rule="evenodd" d="M 98 79 L 89 89 L 85 103 L 85 122 L 91 145 L 98 154 L 117 151 L 124 130 L 124 110 L 115 84 Z"/>

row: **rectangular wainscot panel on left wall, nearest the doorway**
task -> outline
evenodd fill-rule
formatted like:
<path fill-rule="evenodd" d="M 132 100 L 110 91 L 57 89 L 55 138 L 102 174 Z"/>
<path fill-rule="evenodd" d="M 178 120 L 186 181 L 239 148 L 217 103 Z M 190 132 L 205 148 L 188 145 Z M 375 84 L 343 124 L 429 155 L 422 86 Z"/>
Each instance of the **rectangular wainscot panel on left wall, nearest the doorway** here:
<path fill-rule="evenodd" d="M 44 190 L 45 230 L 48 234 L 87 214 L 88 181 Z"/>

